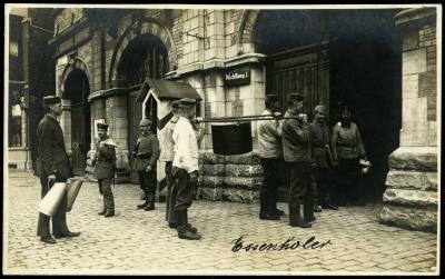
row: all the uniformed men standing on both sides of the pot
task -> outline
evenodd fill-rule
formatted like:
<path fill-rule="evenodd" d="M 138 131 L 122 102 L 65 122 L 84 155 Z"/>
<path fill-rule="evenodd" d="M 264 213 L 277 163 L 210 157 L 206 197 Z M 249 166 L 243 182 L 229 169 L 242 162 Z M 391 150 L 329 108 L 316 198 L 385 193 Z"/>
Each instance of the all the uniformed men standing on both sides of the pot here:
<path fill-rule="evenodd" d="M 315 108 L 315 119 L 310 126 L 301 118 L 303 94 L 291 93 L 288 110 L 284 119 L 279 119 L 280 110 L 277 96 L 266 96 L 268 120 L 261 120 L 258 127 L 258 143 L 264 183 L 260 189 L 259 218 L 279 220 L 285 215 L 277 208 L 278 183 L 280 181 L 280 161 L 284 158 L 288 168 L 289 181 L 289 223 L 293 227 L 308 228 L 315 220 L 314 210 L 320 211 L 318 203 L 325 209 L 337 209 L 334 203 L 343 205 L 346 197 L 349 201 L 357 199 L 358 159 L 364 158 L 365 150 L 357 126 L 350 122 L 350 112 L 345 109 L 342 120 L 333 129 L 325 123 L 326 108 Z M 201 236 L 188 221 L 188 208 L 191 206 L 198 178 L 198 142 L 204 137 L 204 127 L 194 119 L 196 101 L 180 99 L 171 103 L 172 118 L 162 130 L 160 145 L 151 132 L 152 121 L 142 119 L 139 123 L 140 136 L 132 151 L 138 171 L 139 182 L 145 192 L 145 202 L 138 209 L 155 209 L 157 161 L 166 163 L 168 226 L 177 229 L 181 239 L 198 240 Z M 41 182 L 41 197 L 51 189 L 55 182 L 67 182 L 72 177 L 68 155 L 65 149 L 63 133 L 58 121 L 62 113 L 61 99 L 56 96 L 43 98 L 47 114 L 39 122 L 37 173 Z M 99 140 L 92 159 L 95 177 L 98 179 L 99 192 L 103 196 L 105 217 L 115 216 L 115 201 L 111 183 L 116 168 L 116 142 L 108 134 L 108 126 L 98 123 Z M 329 169 L 337 168 L 337 191 L 329 185 Z M 314 178 L 315 175 L 315 178 Z M 340 190 L 340 195 L 338 195 Z M 346 195 L 344 195 L 346 193 Z M 300 208 L 303 205 L 303 215 Z M 67 220 L 67 197 L 52 217 L 52 232 L 56 238 L 78 237 L 80 232 L 71 232 Z M 38 236 L 46 243 L 56 243 L 49 230 L 50 217 L 40 213 Z"/>

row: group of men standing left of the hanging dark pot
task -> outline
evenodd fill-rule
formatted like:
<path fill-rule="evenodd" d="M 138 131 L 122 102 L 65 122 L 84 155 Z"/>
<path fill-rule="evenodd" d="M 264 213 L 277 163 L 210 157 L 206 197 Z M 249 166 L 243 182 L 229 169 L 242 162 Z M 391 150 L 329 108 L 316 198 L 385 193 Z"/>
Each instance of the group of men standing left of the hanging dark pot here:
<path fill-rule="evenodd" d="M 59 123 L 62 113 L 61 99 L 57 96 L 43 97 L 46 116 L 39 122 L 37 175 L 40 177 L 41 197 L 56 182 L 67 182 L 72 177 L 70 161 L 65 148 L 63 132 Z M 188 222 L 188 208 L 192 203 L 195 186 L 198 178 L 198 141 L 202 139 L 204 128 L 194 121 L 196 101 L 180 99 L 171 102 L 172 118 L 167 124 L 159 147 L 158 138 L 151 132 L 152 121 L 142 119 L 139 123 L 140 134 L 134 149 L 136 158 L 134 168 L 138 171 L 140 187 L 145 192 L 145 202 L 138 209 L 155 209 L 157 161 L 166 162 L 168 205 L 166 219 L 170 228 L 178 230 L 181 239 L 200 239 L 197 229 Z M 98 123 L 99 140 L 96 145 L 95 177 L 99 192 L 103 196 L 103 209 L 99 215 L 115 216 L 115 199 L 111 185 L 116 169 L 116 142 L 109 138 L 108 124 Z M 52 216 L 52 233 L 55 238 L 78 237 L 80 232 L 71 232 L 67 226 L 67 195 Z M 56 243 L 49 230 L 51 217 L 39 215 L 38 231 L 40 240 Z"/>

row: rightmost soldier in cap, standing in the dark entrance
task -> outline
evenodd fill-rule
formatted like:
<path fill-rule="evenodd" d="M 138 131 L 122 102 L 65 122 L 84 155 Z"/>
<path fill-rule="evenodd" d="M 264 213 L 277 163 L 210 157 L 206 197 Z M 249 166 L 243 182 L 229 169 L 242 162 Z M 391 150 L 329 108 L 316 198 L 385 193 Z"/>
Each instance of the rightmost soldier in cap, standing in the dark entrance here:
<path fill-rule="evenodd" d="M 359 159 L 366 160 L 366 151 L 357 124 L 352 122 L 350 118 L 350 110 L 344 106 L 340 121 L 333 128 L 333 158 L 337 167 L 336 198 L 340 206 L 347 203 L 363 206 L 358 185 Z"/>

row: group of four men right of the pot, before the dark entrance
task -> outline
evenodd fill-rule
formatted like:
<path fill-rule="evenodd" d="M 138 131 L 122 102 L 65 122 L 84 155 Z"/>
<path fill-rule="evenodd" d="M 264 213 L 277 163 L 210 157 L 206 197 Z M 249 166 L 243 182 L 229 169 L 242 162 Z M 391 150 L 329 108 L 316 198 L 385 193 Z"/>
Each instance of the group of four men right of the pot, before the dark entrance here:
<path fill-rule="evenodd" d="M 310 228 L 315 220 L 314 211 L 319 212 L 322 208 L 337 210 L 338 206 L 357 201 L 363 203 L 357 182 L 359 159 L 366 159 L 366 153 L 347 107 L 343 108 L 340 121 L 330 132 L 326 123 L 326 107 L 315 107 L 315 118 L 308 123 L 303 113 L 303 93 L 290 93 L 288 109 L 281 119 L 278 96 L 266 96 L 263 114 L 270 116 L 270 119 L 260 120 L 258 124 L 259 157 L 264 169 L 259 218 L 279 220 L 284 216 L 284 211 L 277 208 L 284 160 L 289 191 L 289 225 Z"/>

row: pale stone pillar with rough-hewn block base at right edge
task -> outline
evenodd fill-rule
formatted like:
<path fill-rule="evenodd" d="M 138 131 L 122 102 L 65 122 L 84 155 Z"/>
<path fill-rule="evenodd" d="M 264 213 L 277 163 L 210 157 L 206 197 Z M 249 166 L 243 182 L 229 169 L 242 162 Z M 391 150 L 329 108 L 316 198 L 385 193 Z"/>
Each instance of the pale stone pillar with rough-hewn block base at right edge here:
<path fill-rule="evenodd" d="M 403 39 L 403 123 L 400 147 L 389 157 L 380 221 L 436 231 L 436 10 L 409 9 L 395 20 Z"/>

